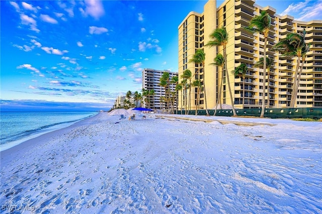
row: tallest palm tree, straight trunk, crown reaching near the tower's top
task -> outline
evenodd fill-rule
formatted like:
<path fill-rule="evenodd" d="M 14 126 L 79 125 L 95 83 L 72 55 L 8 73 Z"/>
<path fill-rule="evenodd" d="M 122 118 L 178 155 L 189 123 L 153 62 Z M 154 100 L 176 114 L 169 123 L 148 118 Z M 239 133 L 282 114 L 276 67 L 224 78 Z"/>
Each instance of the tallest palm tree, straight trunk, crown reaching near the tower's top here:
<path fill-rule="evenodd" d="M 265 85 L 266 85 L 266 46 L 267 46 L 267 38 L 268 33 L 271 27 L 271 17 L 266 11 L 262 11 L 259 16 L 255 16 L 251 21 L 250 25 L 245 29 L 253 32 L 253 33 L 263 33 L 264 35 L 264 67 L 263 67 L 263 103 L 262 103 L 262 112 L 261 118 L 264 117 L 265 112 Z"/>

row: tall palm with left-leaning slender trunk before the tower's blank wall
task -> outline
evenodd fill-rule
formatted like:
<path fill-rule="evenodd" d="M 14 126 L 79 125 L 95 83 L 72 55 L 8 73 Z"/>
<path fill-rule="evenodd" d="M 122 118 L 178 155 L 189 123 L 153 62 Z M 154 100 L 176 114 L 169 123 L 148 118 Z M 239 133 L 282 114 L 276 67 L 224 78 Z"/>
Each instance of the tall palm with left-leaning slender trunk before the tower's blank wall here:
<path fill-rule="evenodd" d="M 230 102 L 231 102 L 231 108 L 232 108 L 232 114 L 233 116 L 236 116 L 236 111 L 233 105 L 233 98 L 232 98 L 232 93 L 231 93 L 231 88 L 230 88 L 230 81 L 229 81 L 229 73 L 228 73 L 228 68 L 227 68 L 227 53 L 226 53 L 226 47 L 228 43 L 228 34 L 226 31 L 226 28 L 222 26 L 221 28 L 217 28 L 213 30 L 213 32 L 209 35 L 209 37 L 212 39 L 211 41 L 208 42 L 205 46 L 207 47 L 214 47 L 214 46 L 222 46 L 223 48 L 223 56 L 225 59 L 225 70 L 226 70 L 226 77 L 227 77 L 227 84 L 228 84 L 228 90 L 229 90 L 229 95 L 230 95 Z"/>

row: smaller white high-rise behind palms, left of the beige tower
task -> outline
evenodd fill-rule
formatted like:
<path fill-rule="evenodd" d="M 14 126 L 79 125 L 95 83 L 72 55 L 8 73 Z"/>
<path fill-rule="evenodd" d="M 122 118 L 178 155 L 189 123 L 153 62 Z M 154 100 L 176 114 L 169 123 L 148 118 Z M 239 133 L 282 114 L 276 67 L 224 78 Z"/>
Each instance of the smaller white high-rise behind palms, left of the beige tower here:
<path fill-rule="evenodd" d="M 166 102 L 162 99 L 162 97 L 166 97 L 165 87 L 160 86 L 160 78 L 162 75 L 168 72 L 170 76 L 170 80 L 174 76 L 178 76 L 177 72 L 171 72 L 168 70 L 154 70 L 149 68 L 144 68 L 142 71 L 142 88 L 145 90 L 154 90 L 154 95 L 150 95 L 148 97 L 149 102 L 143 102 L 145 108 L 150 108 L 155 112 L 163 112 L 164 110 L 168 111 L 169 106 L 167 106 Z M 170 84 L 169 90 L 175 91 L 176 84 Z M 177 105 L 175 101 L 174 106 Z"/>

